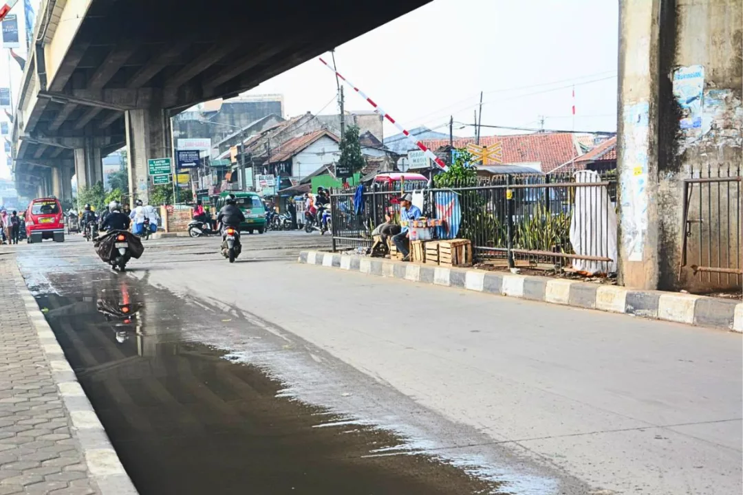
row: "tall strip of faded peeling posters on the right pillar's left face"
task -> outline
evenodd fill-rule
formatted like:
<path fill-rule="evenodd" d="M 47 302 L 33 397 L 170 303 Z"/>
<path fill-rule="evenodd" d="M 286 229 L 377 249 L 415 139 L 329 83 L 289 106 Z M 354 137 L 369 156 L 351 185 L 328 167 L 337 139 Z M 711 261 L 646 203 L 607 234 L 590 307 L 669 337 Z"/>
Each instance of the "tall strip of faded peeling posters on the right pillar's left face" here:
<path fill-rule="evenodd" d="M 624 105 L 624 138 L 619 183 L 622 245 L 630 261 L 642 261 L 648 229 L 649 102 Z"/>

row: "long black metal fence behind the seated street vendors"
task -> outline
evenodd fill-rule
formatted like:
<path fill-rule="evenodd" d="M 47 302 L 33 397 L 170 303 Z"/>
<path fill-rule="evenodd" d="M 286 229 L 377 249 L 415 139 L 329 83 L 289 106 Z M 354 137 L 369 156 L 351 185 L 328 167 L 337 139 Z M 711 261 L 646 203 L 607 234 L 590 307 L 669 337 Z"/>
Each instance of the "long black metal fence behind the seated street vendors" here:
<path fill-rule="evenodd" d="M 614 177 L 590 171 L 508 174 L 413 194 L 425 217 L 444 220 L 433 237 L 470 239 L 477 261 L 545 268 L 574 264 L 606 273 L 616 270 Z M 360 198 L 355 191 L 332 191 L 334 250 L 371 246 L 371 232 L 385 214 L 399 214 L 401 192 L 387 184 Z"/>

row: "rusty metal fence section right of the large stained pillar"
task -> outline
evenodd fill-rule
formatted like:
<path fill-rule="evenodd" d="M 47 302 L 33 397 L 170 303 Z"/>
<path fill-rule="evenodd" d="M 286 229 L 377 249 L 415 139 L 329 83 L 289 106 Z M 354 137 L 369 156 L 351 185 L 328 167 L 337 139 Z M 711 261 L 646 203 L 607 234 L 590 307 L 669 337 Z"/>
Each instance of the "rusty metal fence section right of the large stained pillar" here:
<path fill-rule="evenodd" d="M 707 167 L 690 175 L 684 180 L 681 269 L 689 266 L 707 289 L 740 288 L 741 167 Z"/>

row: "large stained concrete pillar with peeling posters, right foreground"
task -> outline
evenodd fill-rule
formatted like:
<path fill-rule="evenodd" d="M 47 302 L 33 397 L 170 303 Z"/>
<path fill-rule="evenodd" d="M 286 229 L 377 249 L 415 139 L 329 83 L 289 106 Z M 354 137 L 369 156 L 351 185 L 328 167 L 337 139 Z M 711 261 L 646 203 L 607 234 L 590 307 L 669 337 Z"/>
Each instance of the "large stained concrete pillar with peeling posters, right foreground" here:
<path fill-rule="evenodd" d="M 620 1 L 617 168 L 623 285 L 701 290 L 695 286 L 698 276 L 681 269 L 684 180 L 727 175 L 729 168 L 740 174 L 742 24 L 740 1 Z M 697 96 L 690 90 L 695 83 Z M 734 214 L 740 198 L 721 199 L 733 201 Z M 688 218 L 701 216 L 690 212 Z M 717 226 L 726 220 L 713 214 L 704 223 Z M 723 230 L 721 238 L 734 246 L 741 232 Z M 721 251 L 726 248 L 730 245 Z"/>

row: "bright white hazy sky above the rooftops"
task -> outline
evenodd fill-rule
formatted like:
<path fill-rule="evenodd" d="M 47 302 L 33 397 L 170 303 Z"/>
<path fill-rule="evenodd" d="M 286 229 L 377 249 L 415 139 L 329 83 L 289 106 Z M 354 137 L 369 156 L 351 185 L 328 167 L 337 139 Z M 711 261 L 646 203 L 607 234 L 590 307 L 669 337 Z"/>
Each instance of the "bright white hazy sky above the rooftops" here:
<path fill-rule="evenodd" d="M 617 18 L 617 0 L 434 0 L 345 43 L 335 56 L 339 71 L 407 128 L 447 131 L 450 114 L 471 123 L 484 91 L 484 125 L 536 127 L 544 116 L 545 128 L 614 131 Z M 20 71 L 13 85 L 19 79 Z M 288 116 L 337 111 L 335 78 L 317 59 L 250 93 L 284 94 Z M 352 91 L 345 96 L 347 110 L 371 109 Z M 385 135 L 396 133 L 387 122 Z M 455 134 L 473 128 L 455 125 Z M 7 177 L 0 156 L 0 177 Z"/>

